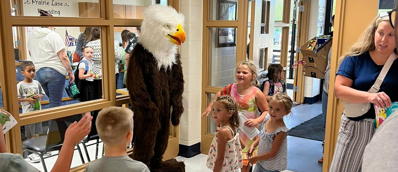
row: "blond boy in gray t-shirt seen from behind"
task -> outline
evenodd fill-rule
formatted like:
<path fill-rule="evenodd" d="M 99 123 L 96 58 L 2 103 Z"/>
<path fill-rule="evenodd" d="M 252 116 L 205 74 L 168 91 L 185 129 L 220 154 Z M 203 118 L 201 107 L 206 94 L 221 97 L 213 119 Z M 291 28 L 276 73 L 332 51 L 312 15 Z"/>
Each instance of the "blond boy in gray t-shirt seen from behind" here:
<path fill-rule="evenodd" d="M 133 139 L 133 111 L 104 108 L 98 113 L 96 128 L 107 151 L 104 157 L 88 164 L 85 172 L 149 172 L 144 163 L 127 156 L 127 146 Z"/>

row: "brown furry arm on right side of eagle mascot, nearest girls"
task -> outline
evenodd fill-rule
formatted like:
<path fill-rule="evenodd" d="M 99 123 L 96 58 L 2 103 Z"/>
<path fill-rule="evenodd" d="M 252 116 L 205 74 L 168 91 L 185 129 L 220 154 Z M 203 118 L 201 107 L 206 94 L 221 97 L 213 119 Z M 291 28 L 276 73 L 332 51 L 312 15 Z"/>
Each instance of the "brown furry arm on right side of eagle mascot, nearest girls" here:
<path fill-rule="evenodd" d="M 182 73 L 181 62 L 179 61 L 178 56 L 178 63 L 173 65 L 173 82 L 172 85 L 172 95 L 171 98 L 171 105 L 173 106 L 171 121 L 173 126 L 177 126 L 179 124 L 179 118 L 181 114 L 184 112 L 184 107 L 182 105 L 182 93 L 184 92 L 184 75 Z"/>

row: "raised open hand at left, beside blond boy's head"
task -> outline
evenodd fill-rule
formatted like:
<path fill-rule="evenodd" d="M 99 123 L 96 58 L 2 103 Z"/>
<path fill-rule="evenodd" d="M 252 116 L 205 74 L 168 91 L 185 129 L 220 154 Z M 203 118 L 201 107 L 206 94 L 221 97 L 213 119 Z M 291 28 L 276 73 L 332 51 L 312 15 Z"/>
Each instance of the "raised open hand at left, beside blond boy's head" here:
<path fill-rule="evenodd" d="M 65 132 L 64 144 L 76 145 L 91 131 L 92 116 L 86 115 L 79 122 L 70 124 Z"/>

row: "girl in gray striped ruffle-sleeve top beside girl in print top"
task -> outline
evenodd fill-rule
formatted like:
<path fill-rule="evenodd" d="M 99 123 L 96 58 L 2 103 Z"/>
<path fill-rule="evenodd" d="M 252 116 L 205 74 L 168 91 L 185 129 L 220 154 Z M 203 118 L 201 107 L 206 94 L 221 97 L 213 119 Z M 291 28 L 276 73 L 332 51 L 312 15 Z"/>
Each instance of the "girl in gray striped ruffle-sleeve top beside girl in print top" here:
<path fill-rule="evenodd" d="M 251 164 L 258 162 L 254 172 L 280 172 L 287 168 L 287 132 L 283 117 L 290 114 L 293 101 L 279 93 L 269 100 L 269 114 L 265 116 L 261 136 L 248 151 Z M 257 156 L 253 152 L 258 146 Z"/>

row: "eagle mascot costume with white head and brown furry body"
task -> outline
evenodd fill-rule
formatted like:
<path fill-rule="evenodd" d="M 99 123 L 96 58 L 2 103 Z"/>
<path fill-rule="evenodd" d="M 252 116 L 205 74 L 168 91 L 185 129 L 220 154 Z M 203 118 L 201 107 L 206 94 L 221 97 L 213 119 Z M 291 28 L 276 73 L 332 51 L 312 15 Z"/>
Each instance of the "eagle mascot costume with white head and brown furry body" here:
<path fill-rule="evenodd" d="M 183 113 L 184 79 L 177 46 L 185 41 L 184 16 L 169 6 L 144 11 L 141 35 L 130 52 L 127 89 L 134 112 L 131 158 L 151 172 L 184 172 L 183 162 L 162 161 L 170 135 Z"/>

